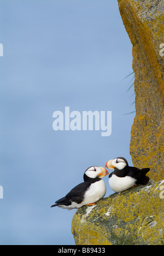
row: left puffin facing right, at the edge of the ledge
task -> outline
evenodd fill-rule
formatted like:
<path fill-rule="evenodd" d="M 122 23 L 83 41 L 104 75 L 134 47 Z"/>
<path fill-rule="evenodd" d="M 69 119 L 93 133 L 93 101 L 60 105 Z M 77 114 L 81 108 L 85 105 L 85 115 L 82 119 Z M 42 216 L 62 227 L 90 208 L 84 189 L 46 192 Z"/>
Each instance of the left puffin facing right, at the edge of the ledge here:
<path fill-rule="evenodd" d="M 91 166 L 87 168 L 84 173 L 84 182 L 74 187 L 51 207 L 58 206 L 72 210 L 84 205 L 95 205 L 95 202 L 106 194 L 106 184 L 101 178 L 108 174 L 108 171 L 103 167 Z"/>

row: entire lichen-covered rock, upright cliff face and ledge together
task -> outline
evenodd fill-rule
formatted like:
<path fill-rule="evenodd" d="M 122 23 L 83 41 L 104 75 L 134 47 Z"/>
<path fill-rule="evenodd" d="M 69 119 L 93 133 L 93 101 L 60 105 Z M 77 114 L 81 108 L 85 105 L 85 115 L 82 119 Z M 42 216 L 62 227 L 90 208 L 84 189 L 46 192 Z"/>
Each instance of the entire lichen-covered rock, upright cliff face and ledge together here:
<path fill-rule="evenodd" d="M 155 182 L 80 208 L 72 233 L 77 245 L 164 245 L 164 1 L 118 2 L 133 45 L 136 117 L 130 153 L 134 166 L 151 168 Z"/>

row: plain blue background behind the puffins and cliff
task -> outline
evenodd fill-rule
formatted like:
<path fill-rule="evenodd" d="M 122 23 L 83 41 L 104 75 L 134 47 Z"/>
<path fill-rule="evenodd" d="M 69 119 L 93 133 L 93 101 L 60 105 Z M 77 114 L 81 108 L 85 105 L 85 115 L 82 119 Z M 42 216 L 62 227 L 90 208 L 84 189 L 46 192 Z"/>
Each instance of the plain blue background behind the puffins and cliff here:
<path fill-rule="evenodd" d="M 74 245 L 76 210 L 50 206 L 92 165 L 129 153 L 132 45 L 118 2 L 0 0 L 1 245 Z M 112 111 L 112 135 L 54 131 L 56 110 Z M 113 193 L 107 185 L 106 196 Z"/>

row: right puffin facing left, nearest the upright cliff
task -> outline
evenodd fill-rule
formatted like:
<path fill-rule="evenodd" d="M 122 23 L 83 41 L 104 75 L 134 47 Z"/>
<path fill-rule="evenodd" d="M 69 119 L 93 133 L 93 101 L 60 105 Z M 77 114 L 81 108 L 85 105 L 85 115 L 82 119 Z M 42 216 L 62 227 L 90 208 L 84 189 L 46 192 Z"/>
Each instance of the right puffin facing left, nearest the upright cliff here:
<path fill-rule="evenodd" d="M 146 185 L 149 182 L 149 177 L 146 174 L 150 171 L 150 168 L 140 170 L 136 167 L 128 166 L 125 158 L 120 157 L 109 160 L 105 167 L 114 169 L 109 174 L 109 186 L 116 193 L 137 185 Z"/>

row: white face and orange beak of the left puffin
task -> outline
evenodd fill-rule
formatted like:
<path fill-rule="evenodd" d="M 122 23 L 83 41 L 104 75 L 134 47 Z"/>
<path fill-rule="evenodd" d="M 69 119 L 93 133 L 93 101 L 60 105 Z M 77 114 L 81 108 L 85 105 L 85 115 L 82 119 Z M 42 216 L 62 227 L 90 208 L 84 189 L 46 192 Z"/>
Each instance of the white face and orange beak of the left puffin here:
<path fill-rule="evenodd" d="M 87 168 L 87 170 L 85 171 L 85 174 L 87 177 L 94 179 L 97 177 L 102 178 L 102 177 L 108 175 L 109 173 L 103 167 L 91 166 L 91 167 Z"/>

